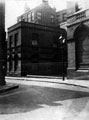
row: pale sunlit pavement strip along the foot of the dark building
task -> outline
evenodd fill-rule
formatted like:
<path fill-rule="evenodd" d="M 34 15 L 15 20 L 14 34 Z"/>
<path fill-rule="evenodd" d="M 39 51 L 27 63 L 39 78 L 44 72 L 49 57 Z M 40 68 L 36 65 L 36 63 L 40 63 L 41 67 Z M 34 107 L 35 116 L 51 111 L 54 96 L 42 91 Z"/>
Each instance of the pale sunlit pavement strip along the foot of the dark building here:
<path fill-rule="evenodd" d="M 27 75 L 26 77 L 7 77 L 6 80 L 22 80 L 22 81 L 36 81 L 36 82 L 48 82 L 48 83 L 58 83 L 58 84 L 66 84 L 80 87 L 89 87 L 89 80 L 87 79 L 67 79 L 63 80 L 62 77 L 55 76 L 38 76 L 38 75 Z"/>

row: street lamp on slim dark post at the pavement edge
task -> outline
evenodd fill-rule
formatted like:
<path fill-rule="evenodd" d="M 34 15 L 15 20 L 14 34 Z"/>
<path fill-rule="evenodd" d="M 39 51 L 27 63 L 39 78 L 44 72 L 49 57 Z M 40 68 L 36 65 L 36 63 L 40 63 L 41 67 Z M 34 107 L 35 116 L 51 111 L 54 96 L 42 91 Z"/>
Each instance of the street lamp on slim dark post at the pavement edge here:
<path fill-rule="evenodd" d="M 60 35 L 59 37 L 59 40 L 60 40 L 60 43 L 61 43 L 61 47 L 62 47 L 62 74 L 63 74 L 63 81 L 65 80 L 65 72 L 64 72 L 64 69 L 65 69 L 65 65 L 64 65 L 64 45 L 65 45 L 65 38 L 62 36 L 62 34 Z"/>

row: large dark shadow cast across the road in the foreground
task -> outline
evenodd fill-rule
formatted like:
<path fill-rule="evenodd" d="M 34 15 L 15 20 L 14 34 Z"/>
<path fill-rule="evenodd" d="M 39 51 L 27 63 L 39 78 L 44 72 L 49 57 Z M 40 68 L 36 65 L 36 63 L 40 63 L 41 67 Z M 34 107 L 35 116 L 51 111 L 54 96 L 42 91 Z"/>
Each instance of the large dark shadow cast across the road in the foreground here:
<path fill-rule="evenodd" d="M 61 106 L 60 101 L 89 97 L 88 92 L 39 86 L 20 86 L 17 90 L 0 97 L 0 114 L 29 112 L 42 105 Z M 58 101 L 58 103 L 56 103 Z"/>

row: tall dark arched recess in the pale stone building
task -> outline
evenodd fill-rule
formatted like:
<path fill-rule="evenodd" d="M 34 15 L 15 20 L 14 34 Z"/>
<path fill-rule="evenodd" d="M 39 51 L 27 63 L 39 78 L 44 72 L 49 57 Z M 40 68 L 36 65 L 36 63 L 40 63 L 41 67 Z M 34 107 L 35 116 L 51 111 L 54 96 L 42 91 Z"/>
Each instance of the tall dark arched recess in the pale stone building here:
<path fill-rule="evenodd" d="M 89 27 L 81 23 L 75 30 L 76 69 L 89 67 Z"/>

